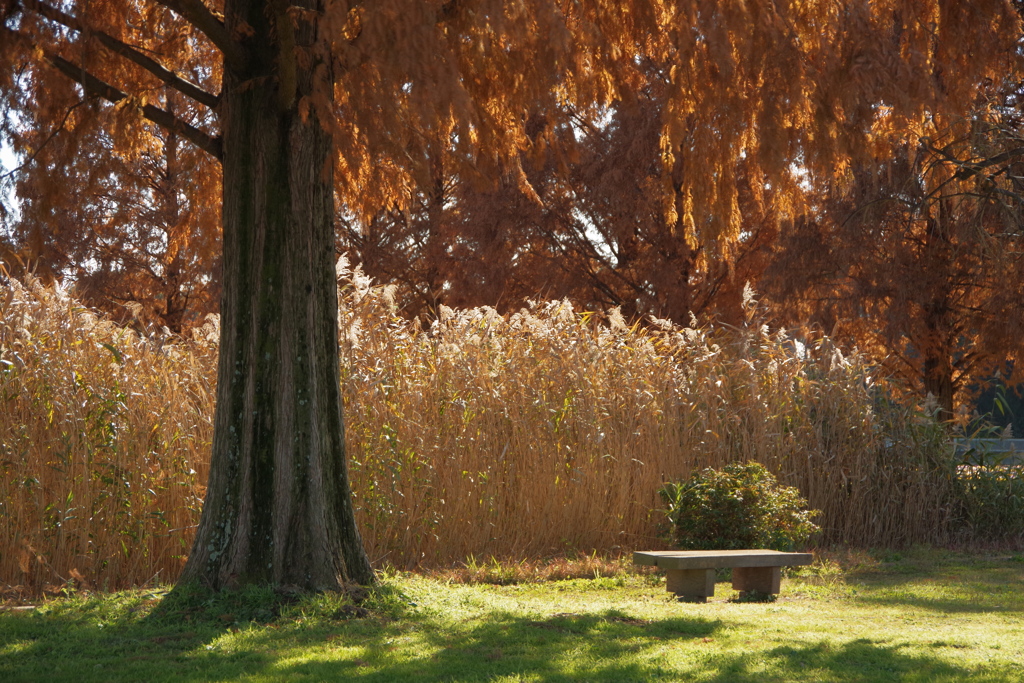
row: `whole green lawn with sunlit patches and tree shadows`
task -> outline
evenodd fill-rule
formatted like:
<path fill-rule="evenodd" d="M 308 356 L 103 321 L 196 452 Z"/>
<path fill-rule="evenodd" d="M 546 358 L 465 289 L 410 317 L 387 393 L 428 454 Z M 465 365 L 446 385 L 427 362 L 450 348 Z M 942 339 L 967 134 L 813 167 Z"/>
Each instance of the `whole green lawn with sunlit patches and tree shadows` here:
<path fill-rule="evenodd" d="M 628 574 L 513 586 L 392 575 L 360 605 L 267 590 L 0 613 L 0 681 L 1024 681 L 1024 557 L 846 555 L 774 603 Z"/>

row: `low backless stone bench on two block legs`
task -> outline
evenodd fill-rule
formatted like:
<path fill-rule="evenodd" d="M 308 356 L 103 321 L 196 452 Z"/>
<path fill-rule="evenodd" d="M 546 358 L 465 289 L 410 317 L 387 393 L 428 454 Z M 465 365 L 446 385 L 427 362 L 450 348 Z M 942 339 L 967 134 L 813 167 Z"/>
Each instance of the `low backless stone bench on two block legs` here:
<path fill-rule="evenodd" d="M 668 570 L 666 588 L 683 602 L 707 602 L 715 595 L 715 570 L 732 567 L 732 587 L 742 597 L 750 591 L 775 595 L 782 567 L 810 564 L 810 553 L 776 550 L 666 550 L 633 553 L 634 564 Z"/>

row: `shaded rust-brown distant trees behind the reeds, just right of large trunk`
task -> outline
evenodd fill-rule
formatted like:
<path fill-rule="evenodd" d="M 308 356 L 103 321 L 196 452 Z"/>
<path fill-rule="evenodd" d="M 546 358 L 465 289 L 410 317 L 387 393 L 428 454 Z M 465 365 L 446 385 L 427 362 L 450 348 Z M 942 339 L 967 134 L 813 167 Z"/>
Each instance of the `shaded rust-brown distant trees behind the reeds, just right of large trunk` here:
<path fill-rule="evenodd" d="M 741 160 L 741 237 L 687 240 L 674 199 L 684 164 L 666 168 L 660 147 L 668 86 L 667 71 L 648 67 L 638 91 L 605 108 L 597 123 L 569 112 L 552 140 L 522 155 L 522 178 L 468 181 L 449 148 L 435 144 L 430 184 L 416 188 L 412 206 L 368 221 L 342 216 L 341 244 L 377 280 L 404 285 L 410 315 L 429 315 L 438 303 L 515 307 L 525 298 L 568 297 L 627 316 L 685 323 L 715 312 L 734 321 L 777 216 Z M 527 131 L 548 121 L 535 111 Z M 701 224 L 714 218 L 703 207 L 693 211 Z"/>

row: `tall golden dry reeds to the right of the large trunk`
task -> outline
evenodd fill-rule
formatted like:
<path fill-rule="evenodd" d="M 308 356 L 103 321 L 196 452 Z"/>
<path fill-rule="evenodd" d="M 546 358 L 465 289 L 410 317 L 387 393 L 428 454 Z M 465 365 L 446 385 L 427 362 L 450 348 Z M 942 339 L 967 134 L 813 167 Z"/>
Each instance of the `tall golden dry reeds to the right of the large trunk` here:
<path fill-rule="evenodd" d="M 441 308 L 418 332 L 361 291 L 347 298 L 345 388 L 376 559 L 658 547 L 662 483 L 736 460 L 798 486 L 823 543 L 953 529 L 941 430 L 827 340 L 798 351 L 758 325 L 598 324 L 568 302 L 507 317 Z"/>

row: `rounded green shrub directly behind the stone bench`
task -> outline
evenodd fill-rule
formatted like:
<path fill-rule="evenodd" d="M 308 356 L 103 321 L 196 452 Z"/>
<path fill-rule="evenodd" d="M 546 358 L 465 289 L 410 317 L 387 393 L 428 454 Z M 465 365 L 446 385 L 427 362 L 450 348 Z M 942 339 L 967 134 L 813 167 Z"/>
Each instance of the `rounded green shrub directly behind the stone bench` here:
<path fill-rule="evenodd" d="M 766 548 L 790 551 L 818 529 L 817 510 L 760 463 L 732 463 L 694 472 L 660 489 L 672 540 L 686 550 Z"/>

